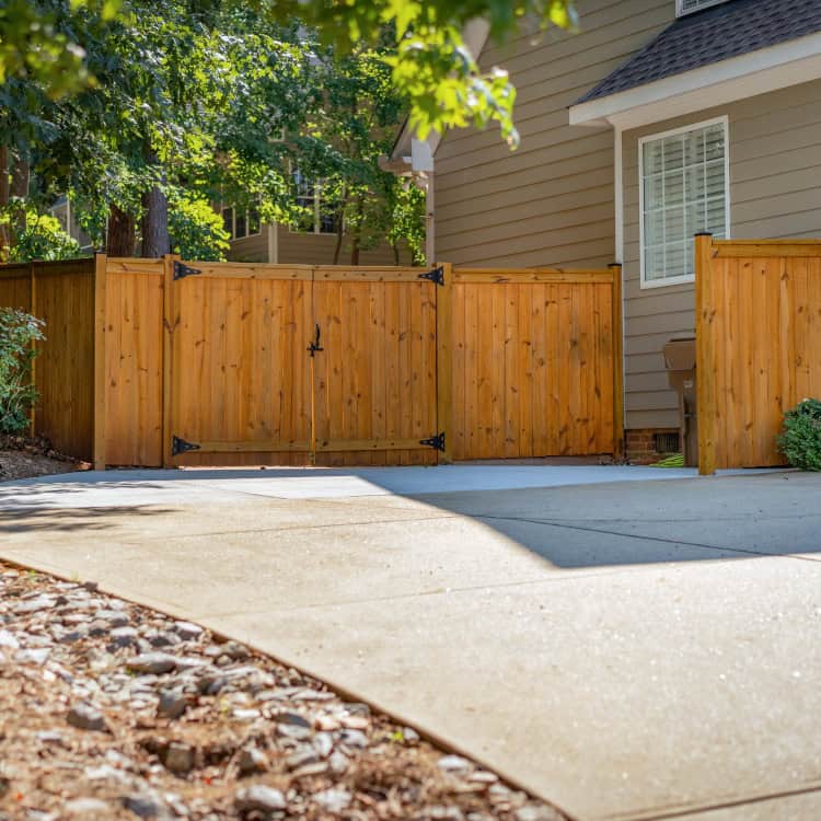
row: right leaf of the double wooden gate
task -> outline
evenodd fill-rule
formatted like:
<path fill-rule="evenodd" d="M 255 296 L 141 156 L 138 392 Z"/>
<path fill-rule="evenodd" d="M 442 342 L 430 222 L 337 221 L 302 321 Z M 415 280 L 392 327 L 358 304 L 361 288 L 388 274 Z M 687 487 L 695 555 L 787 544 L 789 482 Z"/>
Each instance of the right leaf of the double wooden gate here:
<path fill-rule="evenodd" d="M 316 268 L 316 464 L 436 464 L 436 289 L 418 268 Z"/>

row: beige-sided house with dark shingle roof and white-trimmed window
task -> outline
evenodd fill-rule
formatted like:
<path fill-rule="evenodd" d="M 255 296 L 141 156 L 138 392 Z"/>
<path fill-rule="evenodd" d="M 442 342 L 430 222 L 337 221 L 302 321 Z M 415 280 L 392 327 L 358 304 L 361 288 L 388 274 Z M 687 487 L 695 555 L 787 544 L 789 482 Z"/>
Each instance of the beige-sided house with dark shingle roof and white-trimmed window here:
<path fill-rule="evenodd" d="M 694 334 L 693 235 L 821 235 L 821 2 L 576 8 L 575 34 L 497 46 L 481 24 L 466 32 L 483 70 L 510 71 L 522 143 L 511 152 L 493 129 L 429 139 L 435 256 L 622 262 L 627 450 L 648 459 L 677 441 L 662 348 Z M 395 155 L 413 142 L 403 134 Z"/>

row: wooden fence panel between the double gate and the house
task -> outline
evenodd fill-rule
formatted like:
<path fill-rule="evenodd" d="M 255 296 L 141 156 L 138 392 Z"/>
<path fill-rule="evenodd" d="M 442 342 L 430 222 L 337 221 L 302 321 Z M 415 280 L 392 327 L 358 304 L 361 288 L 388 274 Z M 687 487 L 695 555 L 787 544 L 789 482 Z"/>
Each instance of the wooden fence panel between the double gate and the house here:
<path fill-rule="evenodd" d="M 620 450 L 618 277 L 454 270 L 454 459 Z"/>

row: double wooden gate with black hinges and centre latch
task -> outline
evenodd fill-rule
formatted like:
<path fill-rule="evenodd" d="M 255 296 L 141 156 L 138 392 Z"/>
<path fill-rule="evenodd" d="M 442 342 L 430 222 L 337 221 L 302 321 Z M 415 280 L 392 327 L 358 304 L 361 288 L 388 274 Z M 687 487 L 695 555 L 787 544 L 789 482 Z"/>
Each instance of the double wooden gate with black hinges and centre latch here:
<path fill-rule="evenodd" d="M 419 274 L 172 264 L 165 452 L 435 464 L 437 293 Z"/>

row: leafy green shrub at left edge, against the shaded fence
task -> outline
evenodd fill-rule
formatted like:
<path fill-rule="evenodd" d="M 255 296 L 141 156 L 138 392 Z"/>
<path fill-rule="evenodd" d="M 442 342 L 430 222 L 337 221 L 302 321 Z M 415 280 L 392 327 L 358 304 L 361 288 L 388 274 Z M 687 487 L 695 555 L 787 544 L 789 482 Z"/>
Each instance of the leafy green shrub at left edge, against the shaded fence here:
<path fill-rule="evenodd" d="M 45 338 L 43 326 L 24 311 L 0 308 L 0 433 L 28 428 L 28 412 L 37 401 L 31 384 L 33 343 Z"/>

